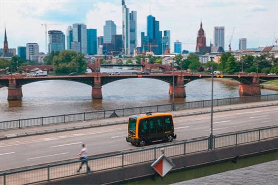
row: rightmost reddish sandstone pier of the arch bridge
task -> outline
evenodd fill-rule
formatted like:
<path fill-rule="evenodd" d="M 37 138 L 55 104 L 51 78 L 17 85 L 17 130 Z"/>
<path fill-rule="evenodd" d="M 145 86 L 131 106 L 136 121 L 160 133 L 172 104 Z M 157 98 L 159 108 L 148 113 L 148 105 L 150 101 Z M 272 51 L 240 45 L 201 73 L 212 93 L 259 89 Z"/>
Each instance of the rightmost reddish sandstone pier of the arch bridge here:
<path fill-rule="evenodd" d="M 259 82 L 259 77 L 253 77 L 252 84 L 240 84 L 239 85 L 240 96 L 250 96 L 250 95 L 261 95 L 261 87 Z"/>

